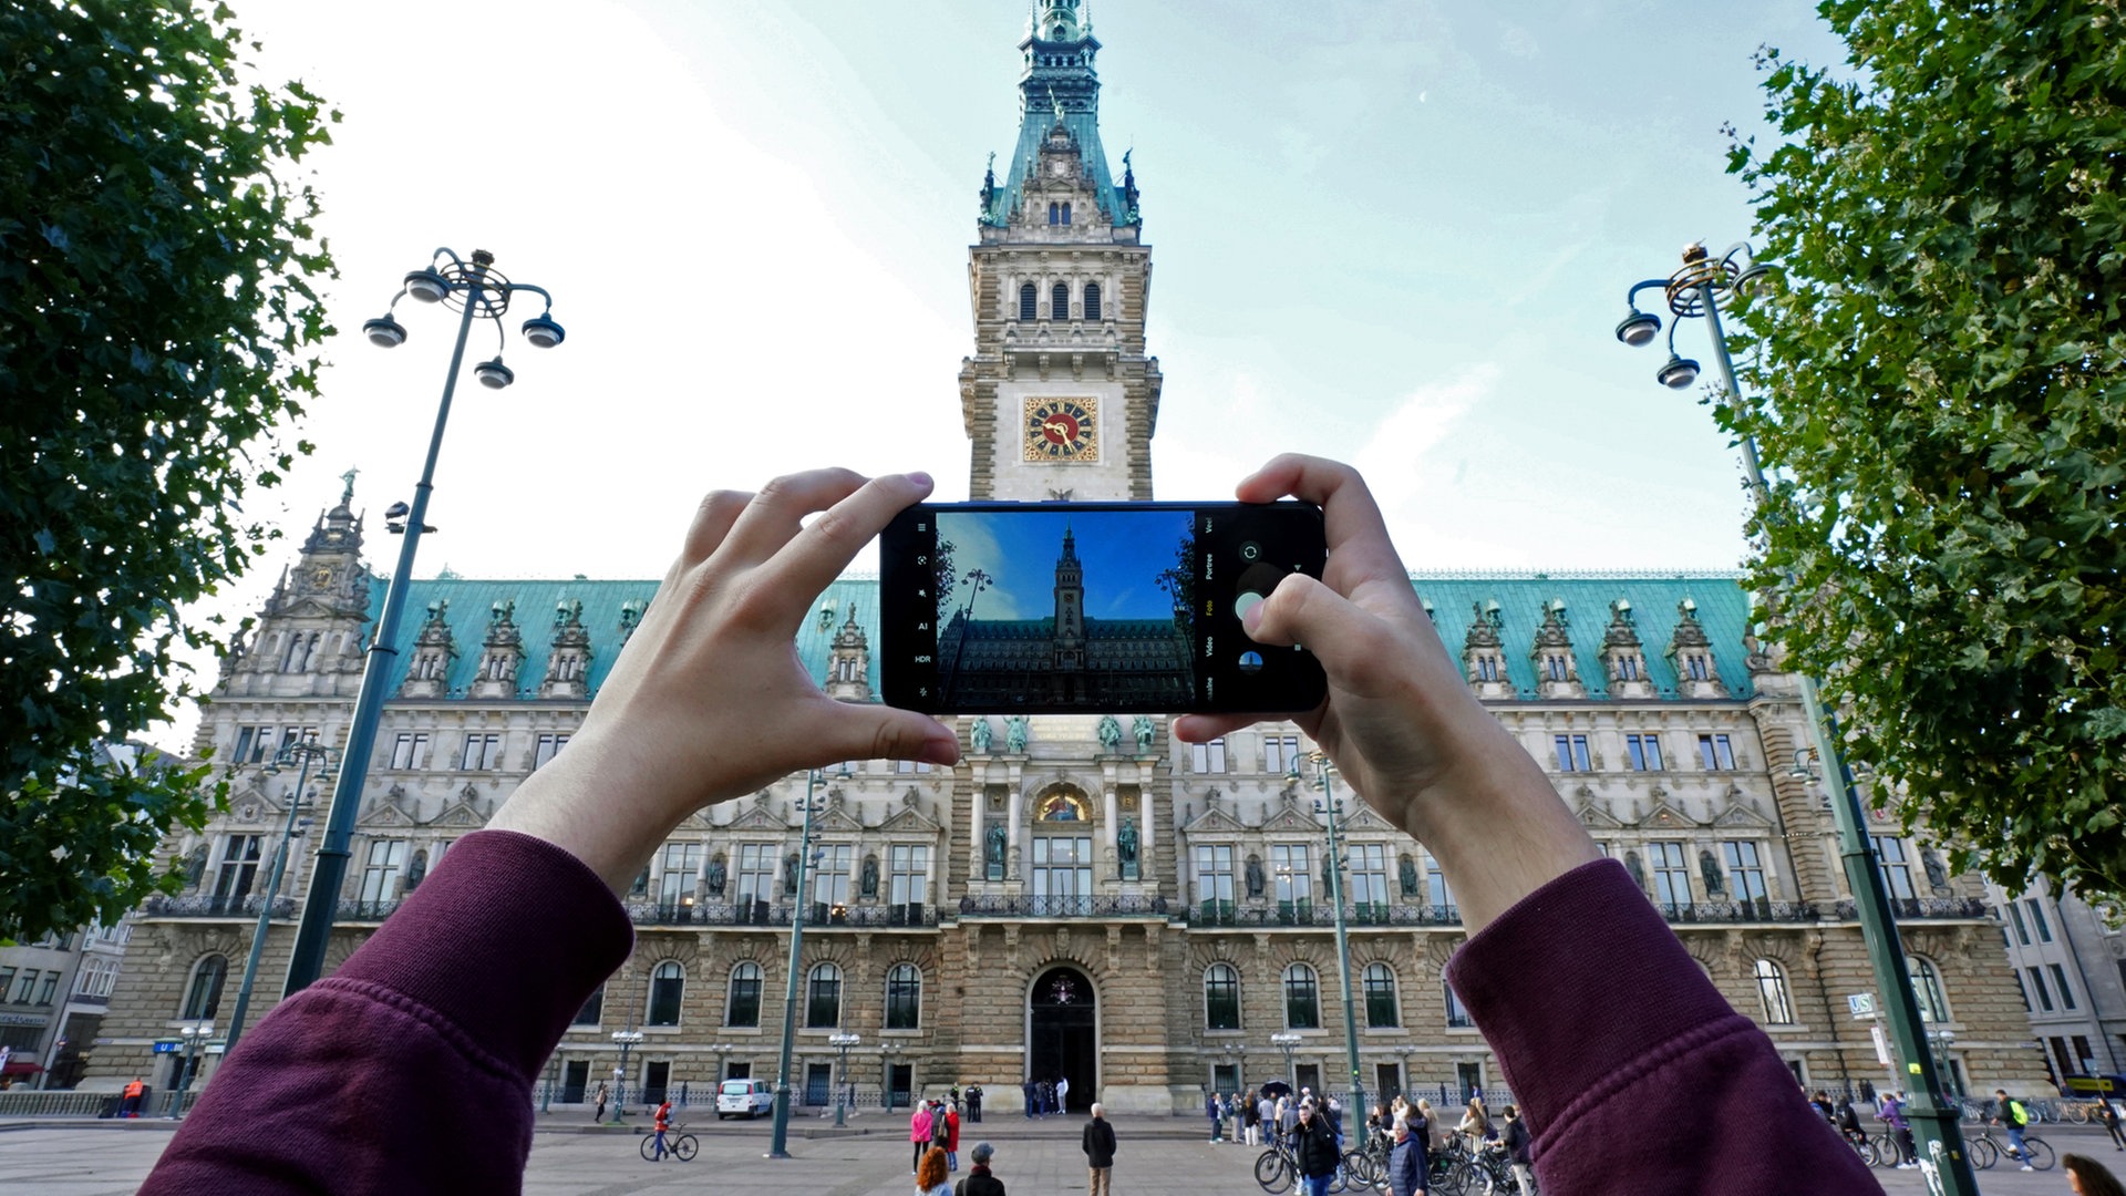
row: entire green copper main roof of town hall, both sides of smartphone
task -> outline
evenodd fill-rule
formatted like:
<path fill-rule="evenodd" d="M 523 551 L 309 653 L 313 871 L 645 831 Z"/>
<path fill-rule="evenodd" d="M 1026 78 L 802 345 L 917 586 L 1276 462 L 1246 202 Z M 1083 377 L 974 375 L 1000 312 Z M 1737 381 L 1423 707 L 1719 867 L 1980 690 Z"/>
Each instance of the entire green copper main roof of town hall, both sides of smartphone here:
<path fill-rule="evenodd" d="M 1529 649 L 1535 645 L 1535 630 L 1543 624 L 1543 604 L 1565 602 L 1567 632 L 1573 641 L 1573 655 L 1580 662 L 1580 681 L 1588 698 L 1607 698 L 1607 670 L 1601 664 L 1603 630 L 1609 626 L 1609 604 L 1618 598 L 1631 602 L 1646 649 L 1648 679 L 1663 698 L 1675 698 L 1675 668 L 1665 658 L 1669 636 L 1675 634 L 1677 604 L 1688 598 L 1697 602 L 1699 624 L 1711 641 L 1714 664 L 1720 681 L 1735 698 L 1748 698 L 1750 670 L 1743 666 L 1741 636 L 1750 630 L 1750 596 L 1735 575 L 1724 572 L 1677 572 L 1677 575 L 1414 575 L 1412 585 L 1418 596 L 1433 607 L 1433 626 L 1446 643 L 1448 655 L 1461 660 L 1469 624 L 1486 602 L 1499 602 L 1503 626 L 1499 638 L 1505 653 L 1507 679 L 1514 690 L 1535 700 L 1535 666 Z M 385 583 L 370 583 L 370 619 L 383 613 Z M 648 604 L 657 594 L 655 581 L 480 581 L 446 577 L 415 581 L 406 600 L 406 617 L 398 634 L 398 660 L 391 672 L 391 694 L 398 694 L 412 662 L 412 647 L 427 617 L 427 604 L 449 600 L 444 621 L 457 645 L 444 692 L 449 698 L 466 698 L 480 668 L 480 643 L 487 638 L 489 613 L 497 602 L 517 602 L 514 619 L 523 636 L 525 658 L 517 666 L 517 696 L 538 698 L 546 679 L 546 662 L 553 655 L 555 607 L 583 602 L 583 626 L 591 632 L 591 694 L 604 685 L 612 672 L 612 662 L 621 653 L 621 604 Z M 870 643 L 870 683 L 878 692 L 878 579 L 842 577 L 812 602 L 810 613 L 797 630 L 797 660 L 806 675 L 825 683 L 827 653 L 833 634 L 848 619 L 855 607 L 857 626 Z M 1046 626 L 1046 619 L 1027 619 L 1029 628 Z M 1046 632 L 1042 632 L 1046 634 Z"/>

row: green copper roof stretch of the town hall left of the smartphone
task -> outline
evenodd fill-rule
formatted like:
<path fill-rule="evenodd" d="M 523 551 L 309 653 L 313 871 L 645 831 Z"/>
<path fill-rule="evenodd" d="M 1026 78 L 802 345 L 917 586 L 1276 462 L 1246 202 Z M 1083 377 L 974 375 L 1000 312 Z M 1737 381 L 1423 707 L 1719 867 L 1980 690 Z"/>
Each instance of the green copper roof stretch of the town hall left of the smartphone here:
<path fill-rule="evenodd" d="M 583 602 L 583 628 L 591 632 L 591 694 L 606 683 L 612 662 L 621 655 L 623 628 L 621 604 L 636 602 L 644 609 L 657 594 L 655 581 L 483 581 L 468 577 L 442 577 L 415 581 L 406 596 L 406 615 L 400 619 L 398 658 L 391 666 L 391 694 L 398 696 L 412 664 L 412 647 L 427 621 L 429 602 L 446 600 L 444 624 L 457 647 L 444 683 L 449 698 L 463 698 L 480 670 L 480 645 L 487 641 L 487 621 L 497 602 L 517 602 L 514 621 L 523 636 L 525 658 L 517 666 L 517 696 L 538 698 L 540 683 L 546 681 L 546 662 L 553 658 L 555 607 Z M 827 681 L 827 651 L 833 634 L 848 619 L 848 609 L 857 609 L 857 626 L 878 651 L 878 579 L 844 577 L 827 587 L 812 602 L 812 613 L 797 630 L 797 660 L 814 681 Z M 370 621 L 383 615 L 385 581 L 370 581 Z M 872 690 L 878 690 L 878 660 L 870 666 Z"/>

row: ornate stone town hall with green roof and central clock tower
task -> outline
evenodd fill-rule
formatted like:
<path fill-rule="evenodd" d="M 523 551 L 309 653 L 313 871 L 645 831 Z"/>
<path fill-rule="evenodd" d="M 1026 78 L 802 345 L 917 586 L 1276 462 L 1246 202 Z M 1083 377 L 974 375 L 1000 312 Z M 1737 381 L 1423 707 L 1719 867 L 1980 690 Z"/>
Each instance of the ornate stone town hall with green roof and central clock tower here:
<path fill-rule="evenodd" d="M 1152 498 L 1163 381 L 1144 338 L 1152 247 L 1129 157 L 1116 177 L 1101 143 L 1099 51 L 1076 0 L 1040 0 L 1018 43 L 1018 140 L 980 185 L 967 249 L 974 343 L 959 406 L 972 498 Z M 196 751 L 230 770 L 227 809 L 168 841 L 189 883 L 134 915 L 87 1085 L 174 1083 L 179 1056 L 157 1043 L 225 1021 L 261 909 L 272 919 L 253 1024 L 279 998 L 315 849 L 302 832 L 323 826 L 332 787 L 313 773 L 298 792 L 298 770 L 268 764 L 287 743 L 347 741 L 385 589 L 368 536 L 349 483 L 223 664 Z M 1059 579 L 1072 553 L 1059 545 Z M 1796 1081 L 1903 1085 L 1847 1002 L 1873 981 L 1824 781 L 1803 753 L 1796 677 L 1750 634 L 1737 579 L 1412 583 L 1471 692 Z M 568 749 L 655 589 L 580 577 L 412 585 L 408 609 L 421 615 L 398 645 L 327 970 Z M 1065 628 L 1037 630 L 1023 647 L 1052 660 Z M 969 662 L 991 660 L 989 634 L 969 630 Z M 1097 651 L 1097 624 L 1076 634 Z M 876 581 L 846 577 L 819 596 L 797 653 L 831 696 L 867 702 L 876 643 Z M 1499 1094 L 1497 1064 L 1441 973 L 1465 938 L 1454 894 L 1342 779 L 1322 785 L 1295 726 L 1184 745 L 1150 700 L 1114 726 L 950 721 L 965 745 L 955 768 L 850 760 L 687 819 L 625 896 L 634 956 L 563 1036 L 551 1096 L 580 1100 L 610 1077 L 623 1058 L 614 1032 L 642 1036 L 625 1064 L 642 1098 L 685 1087 L 702 1100 L 719 1077 L 774 1081 L 799 917 L 791 1083 L 804 1104 L 825 1104 L 838 1079 L 865 1102 L 980 1083 L 991 1109 L 1016 1109 L 1023 1079 L 1067 1077 L 1072 1107 L 1097 1098 L 1131 1113 L 1193 1113 L 1205 1087 L 1278 1077 L 1342 1090 L 1331 868 L 1342 868 L 1365 1090 Z M 1329 800 L 1342 802 L 1342 860 L 1329 856 Z M 287 828 L 298 834 L 270 890 Z M 2043 1060 L 1986 890 L 1894 821 L 1873 832 L 1952 1081 L 2028 1090 Z M 846 1075 L 836 1034 L 859 1036 Z M 215 1062 L 208 1047 L 206 1081 Z"/>

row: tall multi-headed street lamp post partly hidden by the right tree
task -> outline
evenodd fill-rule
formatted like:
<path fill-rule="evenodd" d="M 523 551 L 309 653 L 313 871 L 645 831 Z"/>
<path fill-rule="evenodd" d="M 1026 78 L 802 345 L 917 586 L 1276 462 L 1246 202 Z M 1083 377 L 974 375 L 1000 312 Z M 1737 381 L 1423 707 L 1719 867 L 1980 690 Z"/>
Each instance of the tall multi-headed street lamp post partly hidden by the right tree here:
<path fill-rule="evenodd" d="M 1737 243 L 1720 258 L 1711 258 L 1703 245 L 1684 249 L 1684 264 L 1667 279 L 1646 279 L 1633 283 L 1624 294 L 1631 309 L 1616 326 L 1616 338 L 1624 345 L 1650 345 L 1660 332 L 1660 317 L 1639 311 L 1639 292 L 1660 289 L 1675 321 L 1669 326 L 1669 360 L 1654 375 L 1660 385 L 1684 389 L 1699 377 L 1699 364 L 1675 353 L 1675 330 L 1684 319 L 1705 319 L 1714 347 L 1714 364 L 1720 366 L 1720 383 L 1726 387 L 1722 402 L 1741 402 L 1741 385 L 1735 381 L 1735 362 L 1728 355 L 1726 334 L 1720 328 L 1720 296 L 1748 289 L 1765 279 L 1771 268 L 1756 262 L 1748 243 Z M 1756 441 L 1741 438 L 1741 460 L 1750 477 L 1750 489 L 1758 506 L 1769 500 L 1765 470 L 1758 466 Z M 1792 575 L 1786 575 L 1792 585 Z M 1920 1134 L 1920 1166 L 1928 1175 L 1939 1170 L 1943 1196 L 1977 1196 L 1977 1179 L 1971 1175 L 1971 1160 L 1964 1153 L 1958 1111 L 1939 1100 L 1941 1079 L 1933 1051 L 1922 1034 L 1920 1002 L 1911 987 L 1911 973 L 1905 970 L 1903 945 L 1896 936 L 1896 917 L 1890 911 L 1890 892 L 1875 862 L 1873 843 L 1860 813 L 1860 790 L 1854 773 L 1839 753 L 1837 719 L 1830 717 L 1816 692 L 1816 679 L 1801 675 L 1801 707 L 1816 741 L 1818 760 L 1824 762 L 1826 783 L 1837 777 L 1837 796 L 1830 800 L 1830 815 L 1839 830 L 1839 858 L 1845 864 L 1845 883 L 1854 894 L 1854 911 L 1860 915 L 1860 936 L 1867 941 L 1869 962 L 1875 968 L 1875 983 L 1884 992 L 1884 1013 L 1896 1049 L 1905 1056 L 1905 1068 L 1913 1077 L 1913 1100 L 1907 1109 L 1911 1128 Z M 1937 1164 L 1935 1160 L 1941 1160 Z"/>

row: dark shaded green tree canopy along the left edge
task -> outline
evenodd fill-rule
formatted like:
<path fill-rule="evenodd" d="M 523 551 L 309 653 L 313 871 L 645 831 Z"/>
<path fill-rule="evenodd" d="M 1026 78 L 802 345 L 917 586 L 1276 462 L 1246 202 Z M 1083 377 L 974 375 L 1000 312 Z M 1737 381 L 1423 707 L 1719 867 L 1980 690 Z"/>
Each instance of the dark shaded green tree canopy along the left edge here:
<path fill-rule="evenodd" d="M 219 4 L 0 6 L 0 936 L 117 919 L 219 796 L 96 747 L 221 647 L 179 609 L 272 536 L 238 500 L 289 466 L 332 332 L 291 166 L 338 113 L 244 49 Z"/>

